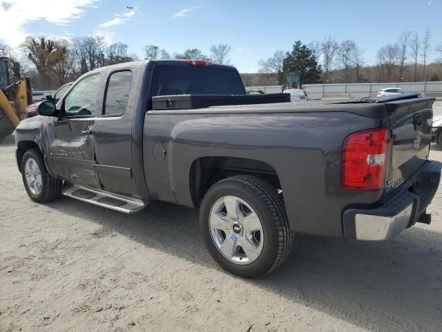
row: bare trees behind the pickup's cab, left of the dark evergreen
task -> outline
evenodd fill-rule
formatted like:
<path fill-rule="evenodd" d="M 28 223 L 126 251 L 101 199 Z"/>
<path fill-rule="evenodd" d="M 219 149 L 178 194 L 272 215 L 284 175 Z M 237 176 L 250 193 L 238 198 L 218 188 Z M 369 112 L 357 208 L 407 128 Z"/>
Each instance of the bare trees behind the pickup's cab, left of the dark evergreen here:
<path fill-rule="evenodd" d="M 21 44 L 21 74 L 31 77 L 35 89 L 57 89 L 93 69 L 139 60 L 136 54 L 128 53 L 128 47 L 122 42 L 107 44 L 103 37 L 95 36 L 70 40 L 27 37 Z M 231 46 L 227 44 L 212 45 L 209 55 L 198 48 L 173 55 L 155 45 L 146 45 L 143 50 L 144 59 L 206 59 L 217 64 L 230 64 Z M 10 57 L 11 66 L 15 61 L 12 49 L 6 44 L 0 43 L 0 56 Z"/>

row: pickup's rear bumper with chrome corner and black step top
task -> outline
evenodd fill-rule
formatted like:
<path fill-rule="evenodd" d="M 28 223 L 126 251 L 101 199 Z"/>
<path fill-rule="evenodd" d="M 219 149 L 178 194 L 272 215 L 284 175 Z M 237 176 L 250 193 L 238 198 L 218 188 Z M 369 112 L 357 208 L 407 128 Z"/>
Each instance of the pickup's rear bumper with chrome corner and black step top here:
<path fill-rule="evenodd" d="M 436 194 L 442 163 L 428 161 L 376 208 L 349 208 L 343 213 L 348 239 L 382 241 L 414 225 Z"/>

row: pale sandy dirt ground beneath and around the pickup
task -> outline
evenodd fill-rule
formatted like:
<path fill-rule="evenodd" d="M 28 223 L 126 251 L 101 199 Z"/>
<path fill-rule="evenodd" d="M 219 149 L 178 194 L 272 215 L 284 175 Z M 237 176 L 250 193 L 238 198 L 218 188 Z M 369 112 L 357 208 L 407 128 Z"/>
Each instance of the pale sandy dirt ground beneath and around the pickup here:
<path fill-rule="evenodd" d="M 13 151 L 0 145 L 0 331 L 442 331 L 442 190 L 431 225 L 381 243 L 297 235 L 247 280 L 213 262 L 197 210 L 38 205 Z"/>

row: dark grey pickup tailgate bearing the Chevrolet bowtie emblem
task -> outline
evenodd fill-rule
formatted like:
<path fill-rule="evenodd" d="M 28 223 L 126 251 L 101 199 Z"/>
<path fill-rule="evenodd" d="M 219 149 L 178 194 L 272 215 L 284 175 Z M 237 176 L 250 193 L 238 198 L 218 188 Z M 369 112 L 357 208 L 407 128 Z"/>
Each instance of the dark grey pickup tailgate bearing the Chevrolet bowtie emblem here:
<path fill-rule="evenodd" d="M 413 98 L 385 102 L 390 116 L 385 188 L 390 192 L 406 181 L 428 159 L 434 98 Z"/>

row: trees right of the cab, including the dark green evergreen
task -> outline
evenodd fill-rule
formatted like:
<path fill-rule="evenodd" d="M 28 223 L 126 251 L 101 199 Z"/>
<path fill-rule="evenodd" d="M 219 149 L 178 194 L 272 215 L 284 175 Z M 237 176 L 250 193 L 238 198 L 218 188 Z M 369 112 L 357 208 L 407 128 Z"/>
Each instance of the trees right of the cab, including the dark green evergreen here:
<path fill-rule="evenodd" d="M 396 42 L 379 48 L 376 64 L 367 66 L 365 50 L 354 40 L 338 42 L 336 37 L 329 35 L 321 42 L 302 44 L 298 41 L 290 52 L 276 50 L 271 57 L 260 60 L 258 65 L 260 73 L 276 73 L 281 77 L 284 73 L 300 73 L 301 78 L 304 75 L 309 82 L 442 80 L 442 61 L 436 61 L 430 66 L 428 64 L 428 56 L 432 52 L 431 44 L 430 29 L 425 30 L 423 35 L 405 30 Z M 442 55 L 442 43 L 434 50 Z M 311 61 L 313 58 L 316 64 Z"/>

